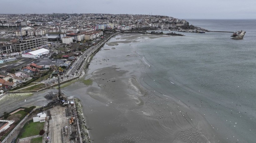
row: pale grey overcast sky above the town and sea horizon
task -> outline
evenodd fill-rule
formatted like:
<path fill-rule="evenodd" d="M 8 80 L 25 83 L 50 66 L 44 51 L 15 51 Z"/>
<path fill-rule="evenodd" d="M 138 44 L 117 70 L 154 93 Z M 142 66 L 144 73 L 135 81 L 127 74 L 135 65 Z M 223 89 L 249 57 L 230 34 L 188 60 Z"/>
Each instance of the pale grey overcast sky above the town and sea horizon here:
<path fill-rule="evenodd" d="M 1 14 L 151 14 L 178 19 L 256 19 L 256 0 L 1 0 Z"/>

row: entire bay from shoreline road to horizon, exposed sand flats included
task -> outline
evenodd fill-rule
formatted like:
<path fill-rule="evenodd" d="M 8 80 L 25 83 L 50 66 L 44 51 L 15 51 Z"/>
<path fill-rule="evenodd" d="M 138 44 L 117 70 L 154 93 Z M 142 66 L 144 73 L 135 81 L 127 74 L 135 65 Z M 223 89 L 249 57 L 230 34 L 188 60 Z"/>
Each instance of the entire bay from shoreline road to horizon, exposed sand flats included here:
<path fill-rule="evenodd" d="M 199 22 L 247 33 L 119 34 L 91 61 L 93 84 L 64 89 L 81 99 L 94 142 L 255 142 L 256 21 Z"/>

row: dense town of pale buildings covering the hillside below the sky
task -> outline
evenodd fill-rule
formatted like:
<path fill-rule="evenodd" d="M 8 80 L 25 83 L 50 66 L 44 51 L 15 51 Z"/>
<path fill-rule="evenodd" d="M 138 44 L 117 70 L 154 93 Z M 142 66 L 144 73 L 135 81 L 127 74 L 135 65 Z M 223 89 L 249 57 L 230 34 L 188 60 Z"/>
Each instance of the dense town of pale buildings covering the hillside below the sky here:
<path fill-rule="evenodd" d="M 173 29 L 185 24 L 187 24 L 186 20 L 159 15 L 1 14 L 0 27 L 7 29 L 0 31 L 0 38 L 12 40 L 0 41 L 0 54 L 26 53 L 42 48 L 53 41 L 65 44 L 71 44 L 74 41 L 92 41 L 103 36 L 105 30 Z"/>

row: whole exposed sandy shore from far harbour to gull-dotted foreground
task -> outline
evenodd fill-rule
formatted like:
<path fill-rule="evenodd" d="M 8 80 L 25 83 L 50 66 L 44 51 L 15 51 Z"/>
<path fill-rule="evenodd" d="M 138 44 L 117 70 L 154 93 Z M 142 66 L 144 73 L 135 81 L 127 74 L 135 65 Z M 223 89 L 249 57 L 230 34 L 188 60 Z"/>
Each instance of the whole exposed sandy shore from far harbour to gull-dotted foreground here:
<path fill-rule="evenodd" d="M 92 79 L 93 84 L 83 88 L 76 84 L 65 89 L 73 90 L 81 99 L 93 142 L 221 141 L 203 114 L 174 96 L 142 87 L 140 72 L 151 67 L 136 51 L 121 51 L 121 58 L 113 54 L 119 50 L 118 43 L 127 46 L 137 43 L 138 38 L 147 41 L 155 37 L 123 34 L 112 39 L 102 48 L 108 49 L 102 50 L 106 57 L 97 53 L 86 70 L 85 79 Z"/>

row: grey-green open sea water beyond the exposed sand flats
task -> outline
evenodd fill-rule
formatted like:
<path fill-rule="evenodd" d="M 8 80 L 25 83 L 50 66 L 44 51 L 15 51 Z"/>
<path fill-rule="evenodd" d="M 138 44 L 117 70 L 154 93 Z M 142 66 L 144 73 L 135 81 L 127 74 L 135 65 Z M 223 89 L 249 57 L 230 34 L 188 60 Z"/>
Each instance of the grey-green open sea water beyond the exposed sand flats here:
<path fill-rule="evenodd" d="M 138 52 L 151 65 L 142 84 L 207 113 L 207 121 L 227 138 L 223 142 L 255 142 L 256 20 L 188 21 L 208 30 L 246 34 L 236 41 L 230 39 L 232 33 L 183 33 L 186 36 L 138 44 Z M 181 91 L 190 91 L 190 96 Z"/>

